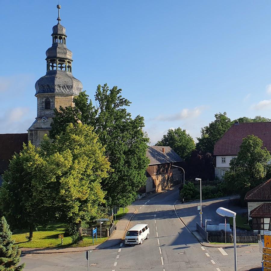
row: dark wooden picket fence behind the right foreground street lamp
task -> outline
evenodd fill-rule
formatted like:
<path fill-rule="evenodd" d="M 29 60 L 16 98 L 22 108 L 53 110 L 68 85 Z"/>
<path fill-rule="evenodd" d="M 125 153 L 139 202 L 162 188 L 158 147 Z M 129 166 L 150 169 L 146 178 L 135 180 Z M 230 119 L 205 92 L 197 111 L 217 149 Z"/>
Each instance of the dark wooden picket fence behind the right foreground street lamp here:
<path fill-rule="evenodd" d="M 208 241 L 212 243 L 225 243 L 225 232 L 208 231 Z M 226 232 L 226 242 L 233 243 L 233 232 Z M 258 243 L 255 232 L 236 232 L 236 243 Z"/>

